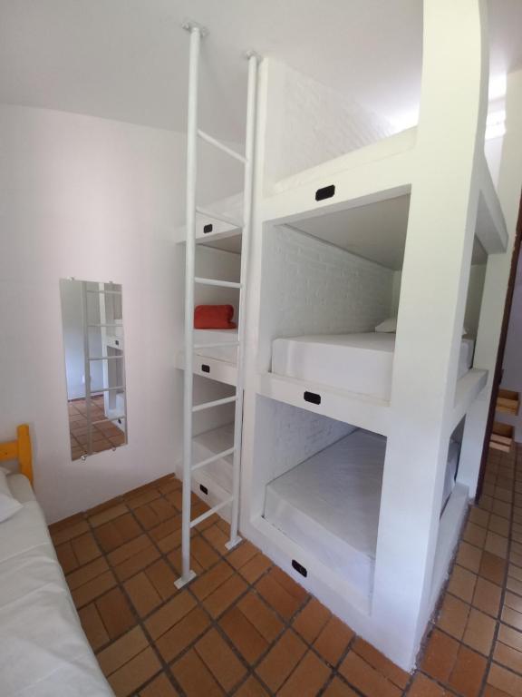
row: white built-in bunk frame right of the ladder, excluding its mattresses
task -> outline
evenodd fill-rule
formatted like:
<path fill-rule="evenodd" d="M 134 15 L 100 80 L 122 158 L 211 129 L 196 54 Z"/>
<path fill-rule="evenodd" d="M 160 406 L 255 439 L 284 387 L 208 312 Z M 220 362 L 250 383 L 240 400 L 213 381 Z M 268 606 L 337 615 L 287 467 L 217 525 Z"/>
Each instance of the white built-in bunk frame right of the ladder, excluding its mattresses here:
<path fill-rule="evenodd" d="M 241 530 L 406 669 L 414 664 L 469 503 L 469 488 L 458 476 L 440 515 L 449 435 L 488 381 L 480 365 L 459 377 L 462 328 L 472 314 L 471 267 L 473 261 L 488 265 L 508 243 L 477 145 L 487 95 L 479 7 L 474 0 L 465 5 L 425 2 L 419 129 L 274 184 L 264 181 L 264 172 L 275 104 L 267 86 L 260 97 L 266 133 L 257 152 Z M 470 40 L 465 57 L 463 31 Z M 440 43 L 447 46 L 443 56 L 434 49 Z M 268 78 L 262 74 L 261 84 Z M 449 118 L 449 101 L 458 120 Z M 346 254 L 359 258 L 359 270 L 349 262 L 344 270 L 335 266 L 334 255 Z M 478 325 L 473 337 L 480 339 L 480 298 L 471 304 Z M 271 372 L 274 339 L 372 331 L 393 306 L 399 317 L 389 400 Z M 352 326 L 342 326 L 343 312 Z M 320 401 L 307 401 L 304 392 Z M 301 416 L 285 421 L 282 409 Z M 340 428 L 351 424 L 387 438 L 371 587 L 347 580 L 305 541 L 299 544 L 264 517 L 266 486 L 331 445 L 324 442 L 330 432 L 324 419 L 333 418 Z M 287 451 L 274 452 L 285 442 Z M 308 446 L 312 451 L 303 453 Z M 282 469 L 274 473 L 277 466 Z"/>

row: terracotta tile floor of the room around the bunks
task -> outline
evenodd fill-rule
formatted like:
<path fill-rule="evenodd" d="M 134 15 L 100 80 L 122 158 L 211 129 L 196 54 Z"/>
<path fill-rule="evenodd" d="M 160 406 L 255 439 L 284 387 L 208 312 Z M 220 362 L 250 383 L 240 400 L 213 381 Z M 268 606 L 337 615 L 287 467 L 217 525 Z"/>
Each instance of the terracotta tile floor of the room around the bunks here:
<path fill-rule="evenodd" d="M 519 458 L 520 460 L 520 458 Z M 522 462 L 522 460 L 520 460 Z M 180 483 L 172 476 L 51 526 L 74 602 L 118 696 L 519 697 L 522 469 L 491 451 L 419 670 L 409 675 L 217 515 L 192 538 L 178 591 Z M 194 498 L 194 516 L 207 506 Z"/>

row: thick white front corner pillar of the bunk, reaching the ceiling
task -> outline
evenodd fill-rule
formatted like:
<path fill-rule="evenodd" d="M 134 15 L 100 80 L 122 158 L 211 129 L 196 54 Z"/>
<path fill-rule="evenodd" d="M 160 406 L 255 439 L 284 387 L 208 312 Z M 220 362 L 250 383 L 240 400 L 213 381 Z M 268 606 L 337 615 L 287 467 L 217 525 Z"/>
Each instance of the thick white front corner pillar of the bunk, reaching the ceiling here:
<path fill-rule="evenodd" d="M 478 209 L 487 54 L 482 0 L 425 0 L 417 165 L 372 605 L 380 648 L 404 668 L 414 663 L 430 612 L 448 421 Z"/>

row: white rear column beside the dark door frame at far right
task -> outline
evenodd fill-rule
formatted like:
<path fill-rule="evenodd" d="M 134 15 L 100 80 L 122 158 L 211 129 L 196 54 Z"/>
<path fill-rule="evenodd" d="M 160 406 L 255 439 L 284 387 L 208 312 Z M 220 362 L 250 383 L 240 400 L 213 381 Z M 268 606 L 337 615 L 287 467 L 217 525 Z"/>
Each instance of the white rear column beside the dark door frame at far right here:
<path fill-rule="evenodd" d="M 498 198 L 506 219 L 509 244 L 505 254 L 488 257 L 482 307 L 478 323 L 474 365 L 489 371 L 488 385 L 469 410 L 459 463 L 459 481 L 469 486 L 475 496 L 482 455 L 484 432 L 488 421 L 493 373 L 497 362 L 498 340 L 506 303 L 511 254 L 517 228 L 518 206 L 522 190 L 522 70 L 507 76 L 506 135 L 498 178 Z"/>

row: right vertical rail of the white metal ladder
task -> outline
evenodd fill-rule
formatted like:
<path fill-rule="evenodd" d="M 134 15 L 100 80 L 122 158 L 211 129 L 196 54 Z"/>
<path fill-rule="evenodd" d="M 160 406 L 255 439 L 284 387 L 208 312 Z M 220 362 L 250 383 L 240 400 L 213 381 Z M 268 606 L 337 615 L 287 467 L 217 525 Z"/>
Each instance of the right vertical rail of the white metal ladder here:
<path fill-rule="evenodd" d="M 239 310 L 237 316 L 237 383 L 236 414 L 234 418 L 234 457 L 232 462 L 232 515 L 230 518 L 230 539 L 225 545 L 232 549 L 241 542 L 237 534 L 239 525 L 239 493 L 241 484 L 241 442 L 243 432 L 243 392 L 245 388 L 245 339 L 247 309 L 247 271 L 252 229 L 252 198 L 254 191 L 254 146 L 256 142 L 256 84 L 259 56 L 254 52 L 247 54 L 247 135 L 245 146 L 245 183 L 243 192 L 244 228 L 241 237 L 241 290 L 239 291 Z"/>

